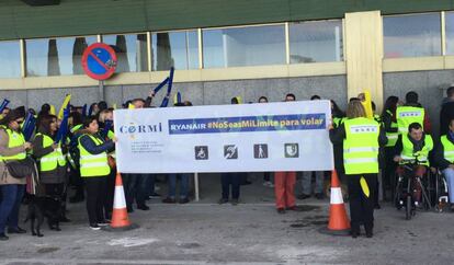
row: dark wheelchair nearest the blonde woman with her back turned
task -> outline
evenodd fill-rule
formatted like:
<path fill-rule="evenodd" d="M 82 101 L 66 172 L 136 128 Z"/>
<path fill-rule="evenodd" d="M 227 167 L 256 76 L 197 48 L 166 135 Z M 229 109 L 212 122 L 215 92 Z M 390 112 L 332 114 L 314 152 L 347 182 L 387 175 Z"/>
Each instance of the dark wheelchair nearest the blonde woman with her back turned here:
<path fill-rule="evenodd" d="M 416 174 L 420 168 L 425 168 L 422 176 Z M 406 220 L 410 220 L 416 215 L 417 208 L 430 210 L 432 208 L 433 181 L 429 166 L 417 160 L 404 161 L 396 171 L 396 188 L 394 200 L 398 210 L 405 208 Z M 420 201 L 416 200 L 418 188 L 420 187 Z"/>

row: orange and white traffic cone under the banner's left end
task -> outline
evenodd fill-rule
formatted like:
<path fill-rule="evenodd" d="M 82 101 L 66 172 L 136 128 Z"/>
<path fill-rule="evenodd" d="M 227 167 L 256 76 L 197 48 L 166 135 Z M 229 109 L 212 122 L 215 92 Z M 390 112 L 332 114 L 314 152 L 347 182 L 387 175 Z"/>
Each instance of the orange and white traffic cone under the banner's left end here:
<path fill-rule="evenodd" d="M 123 189 L 122 175 L 116 173 L 115 180 L 115 197 L 112 211 L 112 229 L 128 230 L 136 228 L 137 226 L 132 224 L 127 216 L 125 192 Z"/>

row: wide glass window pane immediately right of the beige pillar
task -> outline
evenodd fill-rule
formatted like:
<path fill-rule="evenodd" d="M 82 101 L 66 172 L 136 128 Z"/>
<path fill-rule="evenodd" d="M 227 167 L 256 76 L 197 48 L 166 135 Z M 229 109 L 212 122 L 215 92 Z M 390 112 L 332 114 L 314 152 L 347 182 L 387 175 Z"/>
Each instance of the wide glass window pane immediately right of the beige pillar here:
<path fill-rule="evenodd" d="M 385 58 L 441 55 L 439 13 L 383 18 Z"/>

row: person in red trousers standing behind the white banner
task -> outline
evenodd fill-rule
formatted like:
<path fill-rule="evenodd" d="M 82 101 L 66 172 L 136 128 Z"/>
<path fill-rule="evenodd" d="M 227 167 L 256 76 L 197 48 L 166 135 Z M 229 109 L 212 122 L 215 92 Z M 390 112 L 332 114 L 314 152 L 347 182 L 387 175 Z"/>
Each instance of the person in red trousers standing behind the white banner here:
<path fill-rule="evenodd" d="M 285 101 L 295 101 L 294 94 L 286 94 Z M 274 194 L 276 196 L 276 209 L 279 214 L 287 210 L 296 210 L 295 199 L 296 172 L 275 172 L 274 173 Z"/>

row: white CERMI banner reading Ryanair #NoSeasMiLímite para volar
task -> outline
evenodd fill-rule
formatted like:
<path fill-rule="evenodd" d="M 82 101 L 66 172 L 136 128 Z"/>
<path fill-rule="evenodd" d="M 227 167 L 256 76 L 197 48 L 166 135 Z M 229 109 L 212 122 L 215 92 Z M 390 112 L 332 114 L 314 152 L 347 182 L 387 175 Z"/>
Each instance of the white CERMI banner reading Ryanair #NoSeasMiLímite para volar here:
<path fill-rule="evenodd" d="M 122 173 L 326 171 L 329 101 L 118 110 Z"/>

